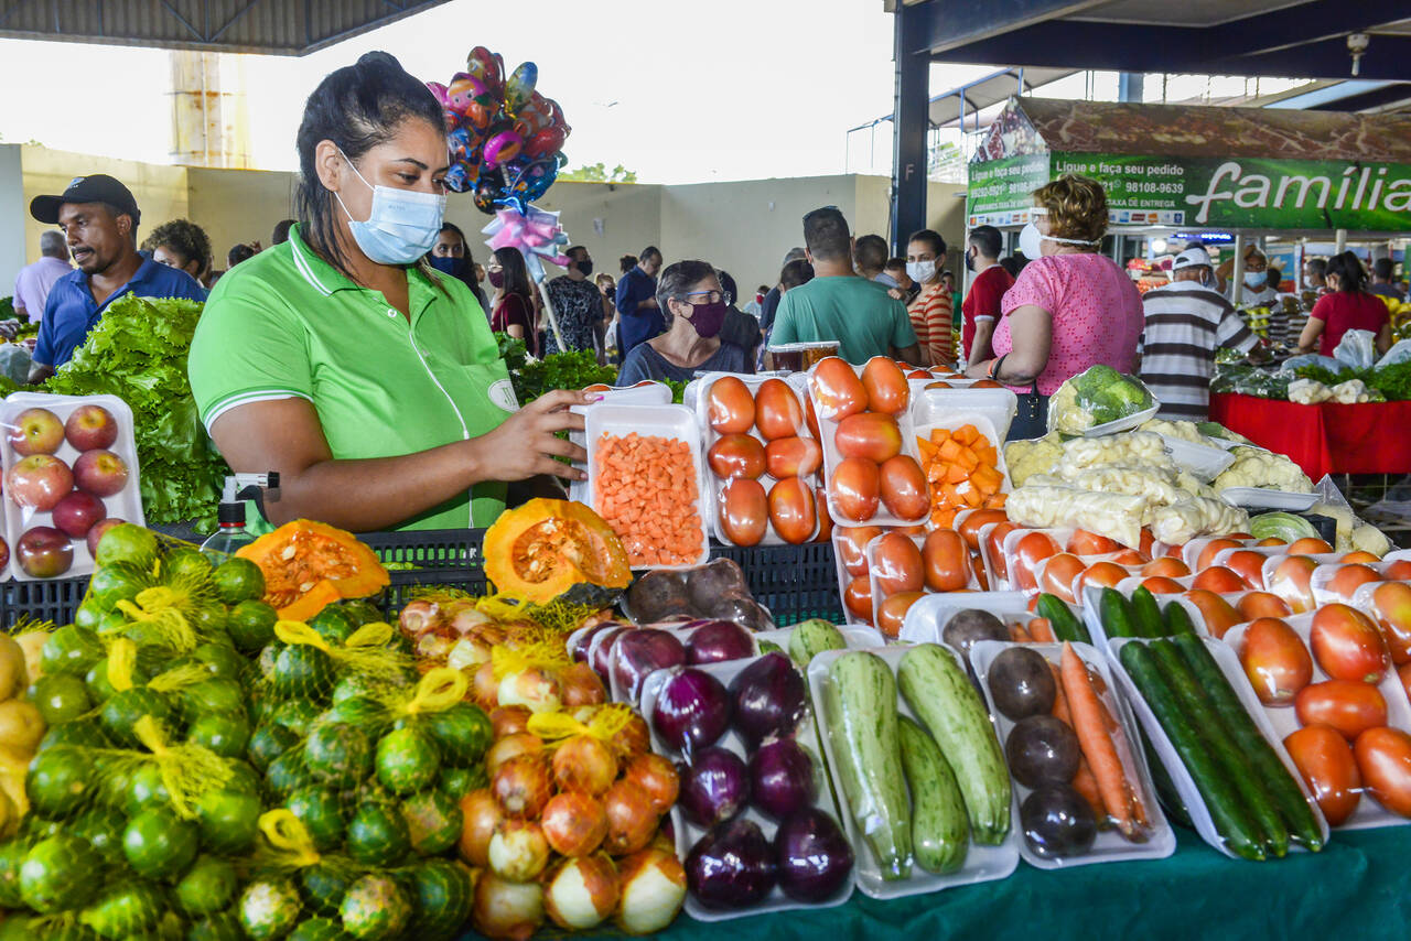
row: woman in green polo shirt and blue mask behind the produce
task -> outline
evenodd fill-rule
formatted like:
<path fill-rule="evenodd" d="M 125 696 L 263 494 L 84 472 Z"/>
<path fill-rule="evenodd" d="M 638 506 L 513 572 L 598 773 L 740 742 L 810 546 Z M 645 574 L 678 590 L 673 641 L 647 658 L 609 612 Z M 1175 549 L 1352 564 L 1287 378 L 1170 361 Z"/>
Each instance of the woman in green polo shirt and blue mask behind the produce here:
<path fill-rule="evenodd" d="M 505 481 L 584 474 L 555 436 L 590 399 L 518 409 L 474 296 L 420 260 L 449 155 L 430 92 L 385 52 L 309 96 L 299 224 L 220 279 L 188 371 L 202 422 L 237 471 L 279 471 L 271 522 L 354 532 L 485 526 Z"/>

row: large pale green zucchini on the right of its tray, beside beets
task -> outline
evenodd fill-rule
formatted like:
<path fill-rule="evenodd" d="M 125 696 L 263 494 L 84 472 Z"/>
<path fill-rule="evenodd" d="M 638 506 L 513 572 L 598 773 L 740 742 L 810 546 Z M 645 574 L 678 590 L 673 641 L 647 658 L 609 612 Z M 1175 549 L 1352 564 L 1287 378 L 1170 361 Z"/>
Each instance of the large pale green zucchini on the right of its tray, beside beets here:
<path fill-rule="evenodd" d="M 902 697 L 955 772 L 975 842 L 1002 844 L 1010 824 L 1009 769 L 965 669 L 945 648 L 920 643 L 902 655 L 896 677 Z"/>

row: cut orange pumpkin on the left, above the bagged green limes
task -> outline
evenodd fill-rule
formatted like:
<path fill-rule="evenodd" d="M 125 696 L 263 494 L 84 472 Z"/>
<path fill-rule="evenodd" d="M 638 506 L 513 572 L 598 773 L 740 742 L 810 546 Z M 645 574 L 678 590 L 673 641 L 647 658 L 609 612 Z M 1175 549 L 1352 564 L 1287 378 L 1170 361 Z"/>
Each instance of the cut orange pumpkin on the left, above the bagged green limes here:
<path fill-rule="evenodd" d="M 312 519 L 285 523 L 236 554 L 260 566 L 264 600 L 285 621 L 308 621 L 334 601 L 365 598 L 391 581 L 353 533 Z"/>

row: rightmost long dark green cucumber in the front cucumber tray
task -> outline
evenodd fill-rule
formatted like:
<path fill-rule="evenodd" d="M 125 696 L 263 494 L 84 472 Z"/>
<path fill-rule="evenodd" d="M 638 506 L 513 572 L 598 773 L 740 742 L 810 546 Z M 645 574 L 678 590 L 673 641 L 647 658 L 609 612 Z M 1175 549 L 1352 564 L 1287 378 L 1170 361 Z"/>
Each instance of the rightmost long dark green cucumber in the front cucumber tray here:
<path fill-rule="evenodd" d="M 1177 607 L 1177 605 L 1173 605 Z M 1308 799 L 1298 787 L 1298 782 L 1288 773 L 1288 767 L 1280 760 L 1268 741 L 1260 734 L 1254 720 L 1245 711 L 1235 690 L 1221 672 L 1215 657 L 1205 643 L 1191 633 L 1175 638 L 1175 646 L 1181 656 L 1195 673 L 1195 680 L 1215 701 L 1215 710 L 1235 739 L 1245 758 L 1254 766 L 1254 773 L 1264 782 L 1266 790 L 1274 799 L 1274 806 L 1288 825 L 1290 838 L 1295 844 L 1318 852 L 1324 846 L 1322 828 L 1314 817 Z"/>

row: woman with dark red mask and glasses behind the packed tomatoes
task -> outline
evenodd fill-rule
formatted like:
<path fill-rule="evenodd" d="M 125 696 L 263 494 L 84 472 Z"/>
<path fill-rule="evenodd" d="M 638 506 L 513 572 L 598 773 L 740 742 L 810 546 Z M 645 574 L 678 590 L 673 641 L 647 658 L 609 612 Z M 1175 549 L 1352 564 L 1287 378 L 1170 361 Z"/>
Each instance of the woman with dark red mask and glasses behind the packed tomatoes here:
<path fill-rule="evenodd" d="M 745 372 L 745 351 L 724 343 L 725 292 L 704 261 L 677 261 L 656 282 L 658 309 L 666 332 L 628 351 L 618 371 L 619 387 L 642 380 L 689 382 L 697 372 Z"/>

